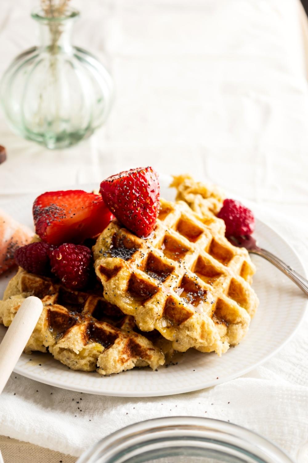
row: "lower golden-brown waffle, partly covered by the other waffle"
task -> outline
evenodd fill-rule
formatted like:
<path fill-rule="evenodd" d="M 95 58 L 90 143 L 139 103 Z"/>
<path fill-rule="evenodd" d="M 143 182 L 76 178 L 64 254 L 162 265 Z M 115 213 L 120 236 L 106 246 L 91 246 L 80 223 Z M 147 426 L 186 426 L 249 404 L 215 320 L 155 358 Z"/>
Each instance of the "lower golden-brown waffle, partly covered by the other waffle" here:
<path fill-rule="evenodd" d="M 133 318 L 109 304 L 102 296 L 101 286 L 98 291 L 70 291 L 50 278 L 23 269 L 9 282 L 4 300 L 0 301 L 0 323 L 9 326 L 29 295 L 42 300 L 43 311 L 25 352 L 48 349 L 71 369 L 97 369 L 101 375 L 135 366 L 156 369 L 165 362 L 161 348 L 170 355 L 170 345 L 162 344 L 160 335 L 155 338 L 160 344 L 157 347 L 135 332 Z"/>

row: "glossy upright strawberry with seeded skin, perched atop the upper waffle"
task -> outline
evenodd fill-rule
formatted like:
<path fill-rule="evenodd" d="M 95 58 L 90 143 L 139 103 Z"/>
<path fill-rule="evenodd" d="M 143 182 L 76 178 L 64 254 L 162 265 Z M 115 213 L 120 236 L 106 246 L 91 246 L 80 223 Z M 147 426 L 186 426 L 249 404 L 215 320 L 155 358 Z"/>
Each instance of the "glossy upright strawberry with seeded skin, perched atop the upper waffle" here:
<path fill-rule="evenodd" d="M 152 167 L 112 175 L 102 181 L 99 191 L 123 225 L 139 237 L 149 236 L 159 212 L 158 174 Z"/>

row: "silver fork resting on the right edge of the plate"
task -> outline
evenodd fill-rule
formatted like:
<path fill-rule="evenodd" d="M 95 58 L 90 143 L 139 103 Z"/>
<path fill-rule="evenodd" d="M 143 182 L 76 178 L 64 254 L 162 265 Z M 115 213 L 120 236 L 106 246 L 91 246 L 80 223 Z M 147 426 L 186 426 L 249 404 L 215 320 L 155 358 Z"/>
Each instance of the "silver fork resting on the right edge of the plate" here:
<path fill-rule="evenodd" d="M 257 254 L 258 256 L 264 257 L 270 263 L 275 265 L 279 270 L 281 270 L 284 275 L 287 275 L 292 282 L 294 282 L 302 292 L 308 296 L 308 280 L 300 275 L 296 270 L 292 269 L 290 265 L 287 265 L 279 259 L 279 257 L 274 256 L 272 252 L 267 251 L 266 249 L 260 248 L 257 245 L 256 240 L 252 236 L 241 236 L 241 237 L 229 237 L 229 242 L 234 246 L 240 248 L 246 248 L 248 252 L 252 254 Z"/>

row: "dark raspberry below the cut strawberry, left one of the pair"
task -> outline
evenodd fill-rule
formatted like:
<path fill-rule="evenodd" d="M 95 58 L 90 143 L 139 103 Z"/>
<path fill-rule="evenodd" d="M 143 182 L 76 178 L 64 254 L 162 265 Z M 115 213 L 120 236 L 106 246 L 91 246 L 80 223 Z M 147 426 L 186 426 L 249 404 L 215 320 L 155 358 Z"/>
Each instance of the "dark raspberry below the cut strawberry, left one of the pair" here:
<path fill-rule="evenodd" d="M 49 275 L 49 249 L 50 245 L 47 243 L 26 244 L 15 251 L 15 262 L 19 267 L 27 270 L 27 272 L 35 273 L 36 275 Z"/>

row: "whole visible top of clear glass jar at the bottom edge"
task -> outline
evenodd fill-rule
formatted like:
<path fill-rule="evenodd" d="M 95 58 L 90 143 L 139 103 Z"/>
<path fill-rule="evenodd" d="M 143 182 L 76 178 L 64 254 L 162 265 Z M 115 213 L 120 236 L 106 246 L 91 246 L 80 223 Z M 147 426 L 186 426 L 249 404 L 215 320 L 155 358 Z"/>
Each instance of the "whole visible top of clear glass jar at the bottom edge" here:
<path fill-rule="evenodd" d="M 102 439 L 77 463 L 294 463 L 276 445 L 217 419 L 150 419 Z"/>

